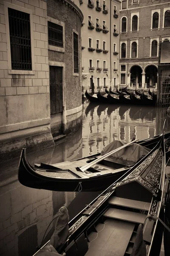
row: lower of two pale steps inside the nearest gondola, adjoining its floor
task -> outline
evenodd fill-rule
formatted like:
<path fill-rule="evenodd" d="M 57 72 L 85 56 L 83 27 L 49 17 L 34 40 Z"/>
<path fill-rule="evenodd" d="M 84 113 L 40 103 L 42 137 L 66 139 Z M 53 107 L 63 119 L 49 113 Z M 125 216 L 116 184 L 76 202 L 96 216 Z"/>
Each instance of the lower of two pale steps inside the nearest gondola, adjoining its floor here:
<path fill-rule="evenodd" d="M 130 221 L 133 223 L 142 223 L 144 224 L 146 214 L 141 214 L 138 212 L 130 212 L 130 211 L 125 211 L 122 209 L 114 209 L 114 208 L 109 208 L 103 216 L 109 217 L 109 218 L 116 218 L 122 221 Z"/>

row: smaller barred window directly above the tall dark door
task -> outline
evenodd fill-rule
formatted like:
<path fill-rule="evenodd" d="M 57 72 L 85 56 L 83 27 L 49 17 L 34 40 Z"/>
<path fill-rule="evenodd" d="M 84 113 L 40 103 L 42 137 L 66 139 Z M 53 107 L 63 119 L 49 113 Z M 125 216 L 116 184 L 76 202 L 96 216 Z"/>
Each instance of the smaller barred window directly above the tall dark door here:
<path fill-rule="evenodd" d="M 48 21 L 48 44 L 63 47 L 62 26 Z"/>

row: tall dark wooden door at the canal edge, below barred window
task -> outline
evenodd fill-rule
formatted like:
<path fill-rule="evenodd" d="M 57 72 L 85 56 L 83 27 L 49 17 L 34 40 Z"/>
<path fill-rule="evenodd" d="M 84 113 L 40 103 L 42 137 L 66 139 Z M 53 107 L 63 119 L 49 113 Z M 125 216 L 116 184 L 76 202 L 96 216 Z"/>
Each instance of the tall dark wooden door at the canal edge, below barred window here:
<path fill-rule="evenodd" d="M 61 113 L 62 101 L 62 67 L 50 66 L 50 111 Z"/>

